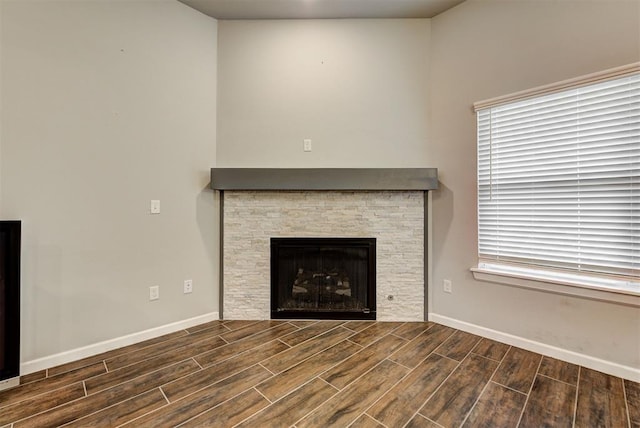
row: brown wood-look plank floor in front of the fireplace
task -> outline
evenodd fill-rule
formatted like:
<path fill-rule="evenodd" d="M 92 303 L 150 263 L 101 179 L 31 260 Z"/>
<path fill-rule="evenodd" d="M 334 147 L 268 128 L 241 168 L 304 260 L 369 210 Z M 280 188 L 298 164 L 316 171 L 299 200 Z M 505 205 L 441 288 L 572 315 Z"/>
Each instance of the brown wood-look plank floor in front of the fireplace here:
<path fill-rule="evenodd" d="M 0 427 L 640 427 L 640 384 L 429 322 L 214 321 L 24 376 Z"/>

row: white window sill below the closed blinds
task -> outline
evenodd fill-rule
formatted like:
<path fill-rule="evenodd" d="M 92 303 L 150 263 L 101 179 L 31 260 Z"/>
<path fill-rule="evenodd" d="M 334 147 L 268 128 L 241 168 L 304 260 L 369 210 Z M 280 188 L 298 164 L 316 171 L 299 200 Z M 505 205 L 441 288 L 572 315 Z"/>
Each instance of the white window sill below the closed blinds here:
<path fill-rule="evenodd" d="M 508 266 L 485 263 L 471 268 L 471 272 L 479 281 L 640 307 L 640 283 L 638 282 L 604 278 L 599 280 L 553 271 L 511 269 Z"/>

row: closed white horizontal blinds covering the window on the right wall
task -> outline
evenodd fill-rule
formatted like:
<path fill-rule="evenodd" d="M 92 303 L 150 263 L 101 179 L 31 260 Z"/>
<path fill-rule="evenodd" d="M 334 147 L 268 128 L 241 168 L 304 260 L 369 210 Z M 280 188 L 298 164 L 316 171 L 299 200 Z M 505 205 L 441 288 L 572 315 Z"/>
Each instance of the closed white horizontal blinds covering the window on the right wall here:
<path fill-rule="evenodd" d="M 640 73 L 477 111 L 481 261 L 640 274 Z"/>

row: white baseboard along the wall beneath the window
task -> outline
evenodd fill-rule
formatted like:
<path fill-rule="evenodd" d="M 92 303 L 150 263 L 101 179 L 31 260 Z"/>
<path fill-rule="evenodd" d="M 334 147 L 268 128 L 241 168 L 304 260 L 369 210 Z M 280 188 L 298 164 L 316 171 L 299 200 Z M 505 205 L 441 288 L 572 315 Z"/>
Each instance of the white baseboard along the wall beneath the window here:
<path fill-rule="evenodd" d="M 438 314 L 429 314 L 429 321 L 443 324 L 468 333 L 477 334 L 478 336 L 493 339 L 507 345 L 517 346 L 518 348 L 528 351 L 537 352 L 548 357 L 557 358 L 573 364 L 578 364 L 593 370 L 598 370 L 612 376 L 618 376 L 623 379 L 629 379 L 634 382 L 640 382 L 640 369 L 613 363 L 611 361 L 602 360 L 600 358 L 581 354 L 567 349 L 558 348 L 556 346 L 547 345 L 545 343 L 536 342 L 534 340 L 525 339 L 524 337 L 514 336 L 509 333 L 492 330 L 476 324 L 460 321 Z"/>

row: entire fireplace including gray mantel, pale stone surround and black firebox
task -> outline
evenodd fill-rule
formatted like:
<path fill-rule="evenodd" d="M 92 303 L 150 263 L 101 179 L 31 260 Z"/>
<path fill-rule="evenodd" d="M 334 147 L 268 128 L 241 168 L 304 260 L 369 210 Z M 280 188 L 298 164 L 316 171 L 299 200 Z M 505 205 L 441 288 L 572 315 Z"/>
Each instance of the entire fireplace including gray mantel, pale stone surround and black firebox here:
<path fill-rule="evenodd" d="M 335 170 L 257 170 L 256 176 L 255 169 L 233 169 L 227 176 L 229 171 L 212 170 L 212 187 L 221 191 L 222 318 L 425 319 L 427 191 L 435 188 L 436 170 L 338 170 L 340 180 L 328 184 L 326 177 L 335 178 L 331 174 Z M 388 180 L 380 179 L 381 173 Z M 422 177 L 418 184 L 416 174 Z M 274 300 L 278 293 L 273 296 L 271 292 L 277 270 L 272 242 L 324 239 L 335 243 L 345 238 L 375 242 L 375 269 L 369 272 L 374 275 L 375 291 L 370 291 L 372 299 L 357 310 L 359 315 L 353 316 L 353 308 L 332 313 L 340 305 L 352 304 L 345 297 L 346 293 L 356 294 L 351 281 L 363 281 L 358 269 L 347 272 L 347 265 L 337 262 L 346 253 L 336 253 L 335 246 L 327 250 L 324 265 L 302 266 L 304 256 L 290 256 L 291 266 L 281 274 L 285 285 L 280 294 L 289 300 L 285 305 L 293 304 L 292 299 L 321 309 L 325 305 L 318 316 L 283 307 L 278 311 Z M 293 266 L 296 264 L 300 266 Z M 312 295 L 319 301 L 314 302 Z M 367 304 L 375 306 L 367 308 Z"/>

